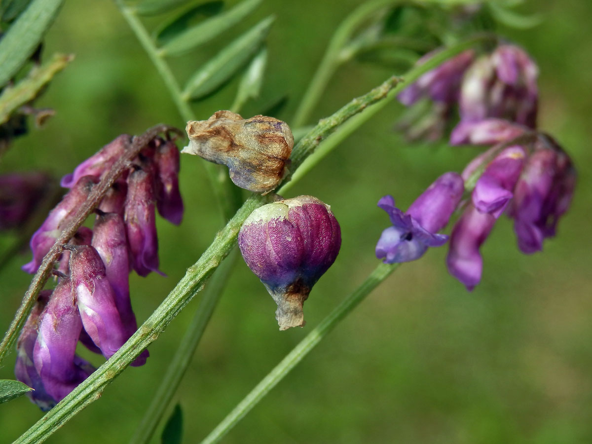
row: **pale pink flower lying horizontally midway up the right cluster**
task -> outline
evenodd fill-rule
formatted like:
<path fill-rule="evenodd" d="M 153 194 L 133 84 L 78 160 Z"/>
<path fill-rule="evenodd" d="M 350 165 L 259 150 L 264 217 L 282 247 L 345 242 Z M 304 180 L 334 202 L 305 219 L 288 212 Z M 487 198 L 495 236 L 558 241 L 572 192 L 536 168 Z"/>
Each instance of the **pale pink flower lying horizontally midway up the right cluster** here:
<path fill-rule="evenodd" d="M 529 128 L 498 118 L 461 121 L 450 135 L 451 145 L 494 145 L 521 136 Z"/>

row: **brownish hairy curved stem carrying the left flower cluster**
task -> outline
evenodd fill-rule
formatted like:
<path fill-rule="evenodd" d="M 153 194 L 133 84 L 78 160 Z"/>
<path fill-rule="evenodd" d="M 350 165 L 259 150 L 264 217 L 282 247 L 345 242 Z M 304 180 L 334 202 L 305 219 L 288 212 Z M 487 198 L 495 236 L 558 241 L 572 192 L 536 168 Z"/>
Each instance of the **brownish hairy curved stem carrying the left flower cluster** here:
<path fill-rule="evenodd" d="M 12 349 L 12 346 L 17 340 L 18 333 L 21 331 L 27 316 L 31 312 L 31 308 L 33 308 L 33 305 L 37 301 L 38 293 L 41 291 L 43 285 L 45 285 L 47 279 L 52 274 L 53 263 L 59 258 L 60 253 L 62 253 L 62 245 L 67 243 L 70 238 L 74 236 L 76 230 L 81 227 L 88 215 L 95 210 L 96 205 L 99 204 L 105 193 L 109 188 L 111 188 L 111 185 L 115 183 L 117 178 L 121 175 L 121 173 L 124 172 L 124 170 L 129 168 L 131 159 L 136 157 L 140 150 L 146 146 L 150 140 L 154 139 L 159 133 L 165 131 L 178 130 L 166 125 L 159 125 L 150 128 L 141 136 L 134 137 L 126 150 L 126 153 L 121 156 L 117 162 L 115 162 L 115 165 L 113 165 L 110 172 L 105 175 L 101 182 L 92 187 L 92 191 L 88 199 L 78 208 L 78 212 L 76 213 L 75 217 L 72 218 L 72 221 L 67 224 L 60 236 L 56 239 L 52 249 L 50 249 L 49 253 L 47 253 L 47 255 L 43 258 L 41 266 L 38 268 L 37 273 L 33 276 L 33 281 L 31 281 L 31 285 L 27 289 L 27 292 L 22 299 L 21 305 L 18 308 L 12 323 L 8 327 L 8 331 L 6 332 L 4 339 L 2 339 L 2 343 L 0 343 L 0 363 Z"/>

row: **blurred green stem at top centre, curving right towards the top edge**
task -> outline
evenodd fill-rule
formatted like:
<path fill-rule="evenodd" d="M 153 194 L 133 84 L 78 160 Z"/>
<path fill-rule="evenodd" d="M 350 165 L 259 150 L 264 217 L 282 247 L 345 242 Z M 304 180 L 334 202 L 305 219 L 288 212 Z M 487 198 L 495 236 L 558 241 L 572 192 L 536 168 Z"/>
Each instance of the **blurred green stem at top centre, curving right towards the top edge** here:
<path fill-rule="evenodd" d="M 361 5 L 358 9 L 348 15 L 348 17 L 339 25 L 339 28 L 333 34 L 329 47 L 321 60 L 320 65 L 314 73 L 313 80 L 310 82 L 307 91 L 298 106 L 298 110 L 292 119 L 292 126 L 303 126 L 310 112 L 313 111 L 317 101 L 321 98 L 324 89 L 333 76 L 333 73 L 339 65 L 346 60 L 342 59 L 340 53 L 348 43 L 349 38 L 356 31 L 356 28 L 362 24 L 369 15 L 374 14 L 377 9 L 387 7 L 398 3 L 400 0 L 375 0 Z"/>

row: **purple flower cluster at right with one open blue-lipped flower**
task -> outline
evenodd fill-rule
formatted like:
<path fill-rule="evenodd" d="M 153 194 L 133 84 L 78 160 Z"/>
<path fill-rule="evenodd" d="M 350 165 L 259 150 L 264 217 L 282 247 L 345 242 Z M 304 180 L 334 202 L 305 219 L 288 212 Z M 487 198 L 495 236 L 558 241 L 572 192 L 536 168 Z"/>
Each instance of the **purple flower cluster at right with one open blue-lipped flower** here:
<path fill-rule="evenodd" d="M 395 208 L 392 197 L 383 197 L 378 206 L 390 215 L 392 227 L 382 232 L 376 254 L 387 263 L 419 258 L 427 247 L 448 240 L 436 232 L 457 206 L 464 207 L 452 229 L 446 263 L 470 291 L 481 280 L 480 247 L 501 214 L 513 218 L 523 253 L 542 250 L 543 240 L 555 236 L 558 220 L 570 206 L 575 169 L 555 140 L 533 130 L 538 69 L 527 54 L 502 45 L 470 67 L 467 60 L 465 53 L 453 57 L 399 98 L 404 104 L 422 95 L 449 107 L 458 102 L 461 120 L 452 130 L 451 144 L 493 146 L 475 157 L 462 176 L 446 173 L 437 179 L 407 213 Z M 471 196 L 459 205 L 464 186 Z"/>

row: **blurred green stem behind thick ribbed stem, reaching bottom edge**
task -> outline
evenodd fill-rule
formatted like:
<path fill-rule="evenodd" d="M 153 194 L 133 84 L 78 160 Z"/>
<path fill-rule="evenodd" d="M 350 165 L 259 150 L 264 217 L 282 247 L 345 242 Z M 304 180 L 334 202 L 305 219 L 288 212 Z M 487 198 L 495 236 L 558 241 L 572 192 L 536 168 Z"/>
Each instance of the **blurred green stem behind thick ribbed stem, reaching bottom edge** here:
<path fill-rule="evenodd" d="M 169 406 L 170 400 L 175 395 L 181 379 L 189 367 L 189 363 L 191 363 L 191 359 L 204 333 L 205 326 L 207 326 L 212 313 L 214 313 L 214 308 L 218 304 L 226 281 L 230 277 L 230 272 L 236 263 L 237 256 L 238 251 L 234 249 L 230 253 L 229 258 L 214 273 L 211 281 L 208 282 L 200 305 L 197 307 L 197 311 L 195 311 L 195 316 L 191 324 L 189 324 L 183 339 L 181 339 L 179 348 L 175 352 L 175 356 L 173 356 L 169 368 L 150 402 L 150 406 L 137 427 L 136 433 L 131 438 L 130 444 L 148 443 L 152 439 L 156 427 L 162 419 L 166 408 Z"/>

